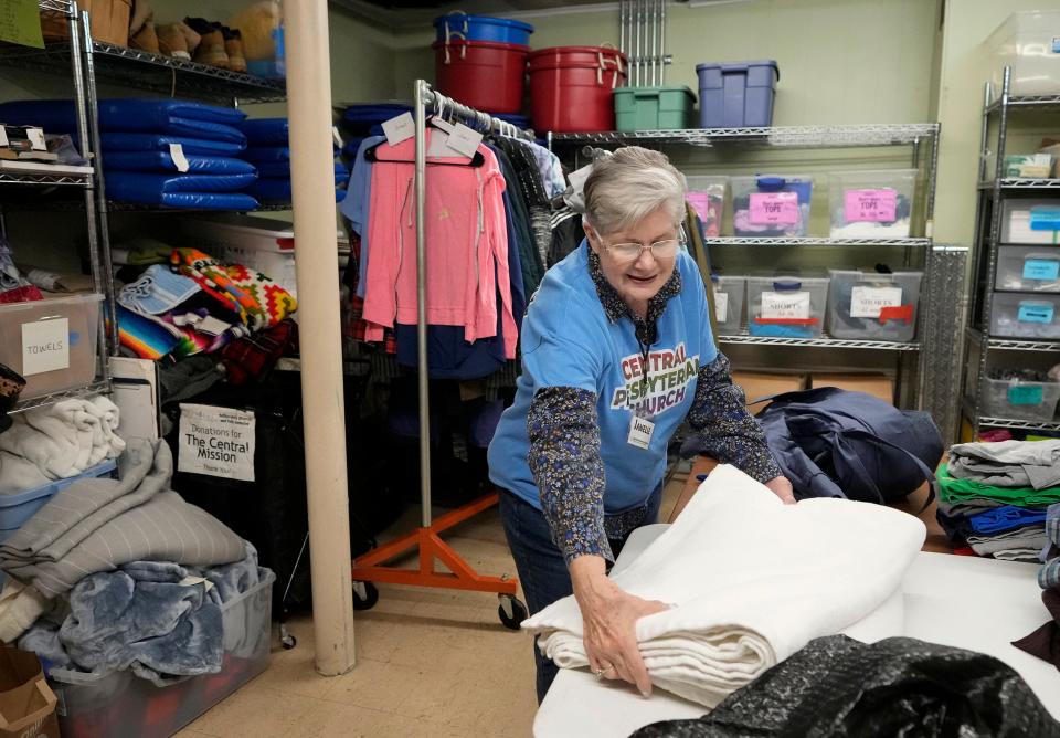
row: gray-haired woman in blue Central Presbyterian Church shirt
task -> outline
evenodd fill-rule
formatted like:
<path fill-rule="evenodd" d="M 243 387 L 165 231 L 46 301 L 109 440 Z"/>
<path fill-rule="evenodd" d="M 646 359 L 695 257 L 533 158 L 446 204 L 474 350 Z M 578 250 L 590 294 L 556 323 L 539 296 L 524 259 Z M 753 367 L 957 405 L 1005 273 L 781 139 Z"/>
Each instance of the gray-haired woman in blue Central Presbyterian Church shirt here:
<path fill-rule="evenodd" d="M 714 348 L 703 282 L 680 249 L 685 176 L 627 147 L 585 182 L 585 241 L 552 267 L 522 324 L 522 375 L 489 447 L 490 478 L 531 613 L 571 594 L 600 678 L 651 689 L 638 618 L 664 609 L 607 578 L 656 521 L 667 445 L 687 419 L 701 447 L 785 502 L 792 486 Z M 538 700 L 555 665 L 537 650 Z"/>

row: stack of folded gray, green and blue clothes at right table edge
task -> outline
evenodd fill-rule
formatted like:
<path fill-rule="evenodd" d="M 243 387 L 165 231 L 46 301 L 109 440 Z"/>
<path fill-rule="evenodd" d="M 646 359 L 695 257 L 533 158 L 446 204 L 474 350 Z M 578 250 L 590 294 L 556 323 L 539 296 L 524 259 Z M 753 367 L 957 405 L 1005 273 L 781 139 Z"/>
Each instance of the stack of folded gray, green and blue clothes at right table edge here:
<path fill-rule="evenodd" d="M 957 444 L 936 476 L 937 518 L 954 544 L 995 559 L 1046 561 L 1046 519 L 1060 503 L 1060 440 Z"/>

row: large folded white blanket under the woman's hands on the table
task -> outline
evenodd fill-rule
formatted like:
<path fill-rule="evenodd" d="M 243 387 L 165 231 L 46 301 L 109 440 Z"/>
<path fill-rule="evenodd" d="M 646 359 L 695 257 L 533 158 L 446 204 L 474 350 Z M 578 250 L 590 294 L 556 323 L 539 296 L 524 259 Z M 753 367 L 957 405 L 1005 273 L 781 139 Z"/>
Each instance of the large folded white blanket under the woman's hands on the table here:
<path fill-rule="evenodd" d="M 857 623 L 899 587 L 924 542 L 918 518 L 846 499 L 786 506 L 719 466 L 677 521 L 613 577 L 671 605 L 637 622 L 653 684 L 713 707 L 810 640 Z M 573 597 L 522 628 L 559 666 L 587 665 Z"/>

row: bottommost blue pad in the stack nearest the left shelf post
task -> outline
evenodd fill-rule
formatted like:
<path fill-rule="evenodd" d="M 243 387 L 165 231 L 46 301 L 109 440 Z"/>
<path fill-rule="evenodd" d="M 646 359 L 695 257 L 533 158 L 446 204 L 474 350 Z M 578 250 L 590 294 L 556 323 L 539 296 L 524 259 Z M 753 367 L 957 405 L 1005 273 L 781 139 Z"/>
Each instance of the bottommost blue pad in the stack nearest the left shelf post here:
<path fill-rule="evenodd" d="M 158 175 L 107 171 L 107 196 L 119 202 L 210 210 L 254 210 L 246 189 L 256 175 Z"/>

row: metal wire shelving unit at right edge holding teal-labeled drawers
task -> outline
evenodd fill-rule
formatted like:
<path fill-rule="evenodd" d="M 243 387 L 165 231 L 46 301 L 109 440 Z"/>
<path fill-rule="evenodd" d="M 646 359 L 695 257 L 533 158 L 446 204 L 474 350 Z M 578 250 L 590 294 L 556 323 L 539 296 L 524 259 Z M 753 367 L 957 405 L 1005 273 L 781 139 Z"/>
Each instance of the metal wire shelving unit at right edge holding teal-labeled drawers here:
<path fill-rule="evenodd" d="M 1024 192 L 1040 192 L 1045 197 L 1060 196 L 1060 179 L 1006 178 L 1005 152 L 1008 146 L 1010 116 L 1060 113 L 1060 95 L 1014 96 L 1011 91 L 1011 70 L 1006 67 L 1001 76 L 999 95 L 994 99 L 990 83 L 984 87 L 982 130 L 979 144 L 978 204 L 976 207 L 975 263 L 973 276 L 977 288 L 973 291 L 965 335 L 967 337 L 965 363 L 973 372 L 965 376 L 962 388 L 962 409 L 972 428 L 973 437 L 977 437 L 983 428 L 1005 428 L 1034 432 L 1060 432 L 1060 419 L 1057 422 L 1039 422 L 998 418 L 983 408 L 983 386 L 987 377 L 990 358 L 997 351 L 1052 354 L 1060 352 L 1060 340 L 1005 338 L 989 335 L 990 314 L 994 308 L 994 293 L 997 281 L 999 251 L 1008 245 L 1001 241 L 1001 210 L 1009 197 Z M 996 125 L 996 139 L 992 140 L 992 126 Z M 994 171 L 988 169 L 990 156 L 994 157 Z M 993 175 L 993 177 L 992 177 Z M 1060 199 L 1057 200 L 1060 203 Z M 1034 245 L 1034 244 L 1030 244 Z M 1046 246 L 1049 247 L 1049 246 Z M 1028 297 L 1042 293 L 1028 293 Z"/>

